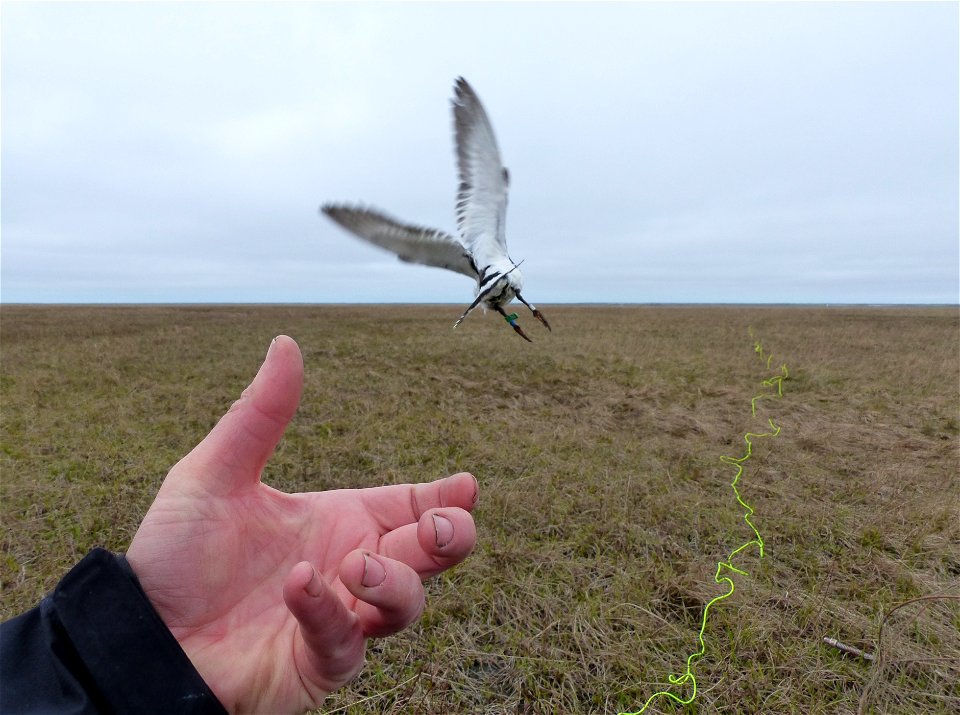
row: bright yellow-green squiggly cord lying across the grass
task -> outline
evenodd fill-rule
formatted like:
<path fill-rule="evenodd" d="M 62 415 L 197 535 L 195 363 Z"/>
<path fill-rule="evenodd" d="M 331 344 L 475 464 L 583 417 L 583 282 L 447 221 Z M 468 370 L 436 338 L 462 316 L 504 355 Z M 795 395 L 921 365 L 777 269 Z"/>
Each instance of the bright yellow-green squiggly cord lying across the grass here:
<path fill-rule="evenodd" d="M 751 338 L 753 337 L 752 328 L 750 329 L 750 337 Z M 757 357 L 760 358 L 760 360 L 766 364 L 766 367 L 769 370 L 770 365 L 773 361 L 773 355 L 764 351 L 763 345 L 761 345 L 759 340 L 755 341 L 753 349 L 754 349 L 754 352 L 757 354 Z M 773 375 L 763 380 L 760 383 L 765 388 L 775 388 L 775 392 L 770 392 L 770 391 L 761 392 L 755 395 L 753 399 L 750 400 L 750 414 L 753 417 L 757 416 L 758 400 L 761 400 L 764 398 L 771 398 L 771 397 L 778 397 L 778 398 L 783 397 L 783 381 L 787 379 L 788 375 L 789 373 L 787 372 L 787 366 L 784 364 L 780 366 L 779 373 L 777 375 Z M 710 609 L 713 607 L 715 603 L 719 603 L 720 601 L 723 601 L 724 599 L 729 598 L 730 596 L 733 595 L 733 592 L 734 592 L 733 579 L 729 575 L 721 575 L 721 574 L 723 574 L 723 572 L 726 570 L 726 571 L 731 571 L 733 573 L 740 574 L 741 576 L 748 576 L 749 574 L 746 571 L 744 571 L 743 569 L 739 569 L 733 565 L 733 559 L 741 551 L 748 549 L 751 546 L 756 546 L 757 550 L 760 553 L 760 558 L 763 558 L 763 538 L 760 536 L 760 532 L 757 530 L 757 527 L 754 525 L 753 521 L 751 520 L 751 517 L 754 514 L 753 507 L 751 507 L 749 504 L 747 504 L 743 500 L 743 495 L 740 494 L 740 489 L 737 487 L 737 484 L 740 481 L 740 477 L 743 475 L 744 462 L 750 459 L 750 457 L 753 455 L 753 440 L 761 437 L 776 437 L 777 435 L 780 434 L 780 427 L 774 424 L 772 418 L 767 420 L 767 424 L 770 425 L 769 432 L 762 432 L 762 433 L 747 432 L 743 436 L 743 441 L 747 445 L 747 450 L 742 457 L 728 457 L 726 455 L 720 457 L 721 462 L 723 462 L 724 464 L 728 464 L 737 470 L 736 474 L 733 477 L 733 481 L 730 482 L 730 487 L 731 489 L 733 489 L 733 494 L 737 499 L 737 503 L 744 509 L 743 520 L 744 522 L 746 522 L 747 526 L 750 527 L 750 530 L 753 532 L 754 538 L 741 544 L 736 549 L 731 551 L 726 561 L 717 562 L 717 572 L 714 575 L 713 580 L 720 585 L 726 585 L 727 591 L 726 593 L 722 593 L 719 596 L 715 596 L 714 598 L 710 599 L 707 605 L 704 606 L 703 616 L 700 619 L 700 632 L 697 634 L 697 641 L 700 643 L 700 648 L 697 651 L 691 653 L 689 656 L 687 656 L 686 669 L 679 675 L 671 674 L 668 676 L 668 680 L 672 685 L 687 685 L 689 683 L 689 687 L 690 687 L 689 696 L 684 698 L 679 695 L 676 695 L 675 693 L 671 693 L 669 690 L 661 690 L 659 692 L 654 693 L 649 698 L 647 698 L 646 702 L 644 702 L 643 706 L 639 710 L 636 710 L 634 712 L 621 712 L 619 713 L 619 715 L 640 715 L 647 708 L 650 707 L 651 703 L 653 703 L 655 700 L 659 698 L 666 698 L 668 700 L 673 700 L 675 703 L 679 703 L 680 705 L 689 705 L 697 697 L 697 678 L 693 673 L 693 666 L 698 660 L 700 660 L 700 658 L 703 657 L 703 654 L 706 653 L 707 651 L 707 644 L 703 637 L 704 632 L 707 630 L 707 615 L 710 613 Z"/>

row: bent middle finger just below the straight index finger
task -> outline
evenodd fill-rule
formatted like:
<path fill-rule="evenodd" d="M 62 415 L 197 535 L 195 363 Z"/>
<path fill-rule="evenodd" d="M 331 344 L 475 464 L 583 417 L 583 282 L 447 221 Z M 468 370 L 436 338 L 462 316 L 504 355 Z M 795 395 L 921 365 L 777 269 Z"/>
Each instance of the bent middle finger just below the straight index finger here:
<path fill-rule="evenodd" d="M 464 509 L 430 509 L 416 524 L 380 537 L 378 553 L 402 561 L 421 579 L 436 576 L 463 561 L 477 544 L 473 517 Z"/>

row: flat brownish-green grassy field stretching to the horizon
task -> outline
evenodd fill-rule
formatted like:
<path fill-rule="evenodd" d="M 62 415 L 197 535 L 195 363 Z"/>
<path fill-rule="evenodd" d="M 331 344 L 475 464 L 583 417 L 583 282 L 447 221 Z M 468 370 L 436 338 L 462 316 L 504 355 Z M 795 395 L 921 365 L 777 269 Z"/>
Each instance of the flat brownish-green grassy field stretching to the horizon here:
<path fill-rule="evenodd" d="M 960 711 L 956 308 L 546 307 L 525 343 L 459 306 L 3 306 L 2 616 L 123 550 L 279 333 L 303 402 L 279 489 L 473 472 L 479 544 L 324 712 Z M 768 369 L 754 339 L 772 353 Z M 762 381 L 789 378 L 783 397 Z M 885 618 L 886 617 L 886 618 Z M 885 620 L 884 620 L 885 619 Z M 878 642 L 883 622 L 882 641 Z M 879 665 L 823 642 L 882 655 Z M 358 701 L 362 702 L 358 703 Z"/>

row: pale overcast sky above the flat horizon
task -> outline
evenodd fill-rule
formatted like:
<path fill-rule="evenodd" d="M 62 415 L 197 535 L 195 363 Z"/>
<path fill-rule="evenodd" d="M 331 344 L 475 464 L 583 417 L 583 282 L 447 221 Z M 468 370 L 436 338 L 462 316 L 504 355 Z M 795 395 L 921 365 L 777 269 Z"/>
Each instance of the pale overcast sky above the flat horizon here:
<path fill-rule="evenodd" d="M 957 303 L 958 4 L 3 3 L 4 302 L 453 302 L 463 75 L 524 295 Z"/>

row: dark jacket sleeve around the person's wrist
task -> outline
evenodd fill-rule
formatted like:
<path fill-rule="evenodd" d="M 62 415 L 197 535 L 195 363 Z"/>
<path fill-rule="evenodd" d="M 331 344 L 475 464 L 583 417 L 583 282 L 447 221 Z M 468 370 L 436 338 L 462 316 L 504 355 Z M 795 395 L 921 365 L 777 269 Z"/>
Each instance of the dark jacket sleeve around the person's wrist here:
<path fill-rule="evenodd" d="M 122 556 L 95 549 L 0 625 L 0 712 L 226 713 Z"/>

